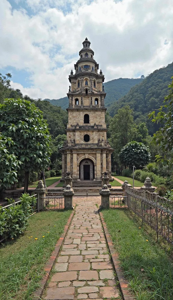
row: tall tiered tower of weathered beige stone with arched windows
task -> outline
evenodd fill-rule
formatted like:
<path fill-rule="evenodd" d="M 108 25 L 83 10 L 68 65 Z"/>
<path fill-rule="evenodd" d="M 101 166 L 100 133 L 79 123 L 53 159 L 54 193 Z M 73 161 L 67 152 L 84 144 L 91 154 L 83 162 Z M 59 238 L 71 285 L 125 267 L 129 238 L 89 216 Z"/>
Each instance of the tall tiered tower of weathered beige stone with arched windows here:
<path fill-rule="evenodd" d="M 94 60 L 94 51 L 86 38 L 79 51 L 75 73 L 69 75 L 69 121 L 67 141 L 62 149 L 62 180 L 66 171 L 73 182 L 101 182 L 102 172 L 111 179 L 111 149 L 105 124 L 104 75 Z M 81 182 L 82 184 L 82 182 Z M 74 184 L 73 184 L 74 186 Z"/>

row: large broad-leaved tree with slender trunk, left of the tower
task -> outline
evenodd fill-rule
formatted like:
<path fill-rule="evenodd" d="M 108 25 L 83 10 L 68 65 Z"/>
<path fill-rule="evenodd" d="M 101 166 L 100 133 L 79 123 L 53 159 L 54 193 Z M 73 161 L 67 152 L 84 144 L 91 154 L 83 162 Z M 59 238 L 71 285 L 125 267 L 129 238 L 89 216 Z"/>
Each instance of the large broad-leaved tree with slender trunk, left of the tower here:
<path fill-rule="evenodd" d="M 0 130 L 14 141 L 8 151 L 22 162 L 26 192 L 29 172 L 42 170 L 50 161 L 48 125 L 34 103 L 5 99 L 0 105 Z"/>

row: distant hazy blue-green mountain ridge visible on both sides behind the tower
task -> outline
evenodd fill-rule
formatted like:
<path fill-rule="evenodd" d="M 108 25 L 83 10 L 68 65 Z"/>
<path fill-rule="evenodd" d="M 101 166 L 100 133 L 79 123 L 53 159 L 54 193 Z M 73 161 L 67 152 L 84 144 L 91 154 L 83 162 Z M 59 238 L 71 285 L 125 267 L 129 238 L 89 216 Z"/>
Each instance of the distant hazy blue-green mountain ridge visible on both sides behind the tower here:
<path fill-rule="evenodd" d="M 104 90 L 106 91 L 105 98 L 105 106 L 109 107 L 112 102 L 117 101 L 120 97 L 126 95 L 130 88 L 138 83 L 140 83 L 143 79 L 129 79 L 129 78 L 119 78 L 113 79 L 111 81 L 104 83 Z M 51 104 L 60 106 L 62 109 L 66 109 L 69 105 L 68 97 L 60 98 L 60 99 L 44 99 L 49 101 Z"/>

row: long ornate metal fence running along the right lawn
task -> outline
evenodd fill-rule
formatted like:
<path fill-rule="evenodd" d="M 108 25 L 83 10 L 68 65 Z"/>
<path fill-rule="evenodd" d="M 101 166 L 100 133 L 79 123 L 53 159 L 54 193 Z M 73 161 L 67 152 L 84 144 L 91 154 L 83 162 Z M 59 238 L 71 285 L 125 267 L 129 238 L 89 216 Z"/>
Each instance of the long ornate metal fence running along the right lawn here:
<path fill-rule="evenodd" d="M 173 243 L 173 201 L 157 193 L 136 190 L 125 185 L 125 206 L 167 241 Z"/>

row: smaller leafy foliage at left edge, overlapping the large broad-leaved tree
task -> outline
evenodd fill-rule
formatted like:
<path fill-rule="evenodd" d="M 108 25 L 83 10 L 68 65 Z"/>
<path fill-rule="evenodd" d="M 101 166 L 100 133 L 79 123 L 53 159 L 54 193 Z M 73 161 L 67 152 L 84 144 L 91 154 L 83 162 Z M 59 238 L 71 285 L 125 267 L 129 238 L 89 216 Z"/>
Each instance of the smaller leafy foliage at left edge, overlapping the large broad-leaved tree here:
<path fill-rule="evenodd" d="M 21 162 L 7 150 L 13 145 L 14 142 L 10 137 L 4 138 L 0 133 L 0 190 L 17 182 L 17 170 L 19 170 Z"/>

